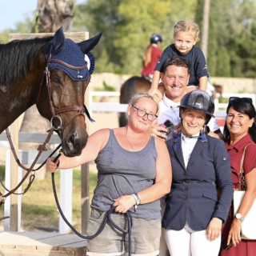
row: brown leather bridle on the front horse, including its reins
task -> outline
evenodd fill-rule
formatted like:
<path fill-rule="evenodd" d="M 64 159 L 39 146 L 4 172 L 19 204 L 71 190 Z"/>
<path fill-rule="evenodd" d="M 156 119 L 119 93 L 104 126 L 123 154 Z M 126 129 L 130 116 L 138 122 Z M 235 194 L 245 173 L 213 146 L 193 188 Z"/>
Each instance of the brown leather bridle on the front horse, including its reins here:
<path fill-rule="evenodd" d="M 63 62 L 63 61 L 59 60 L 59 59 L 51 58 L 51 50 L 52 49 L 50 49 L 50 54 L 49 54 L 49 57 L 47 59 L 46 70 L 42 74 L 42 81 L 41 81 L 41 84 L 40 84 L 40 90 L 39 90 L 38 99 L 37 99 L 37 102 L 36 102 L 36 104 L 38 106 L 38 101 L 39 101 L 40 94 L 41 94 L 41 91 L 42 91 L 42 86 L 43 86 L 44 78 L 46 77 L 46 88 L 47 88 L 48 99 L 49 99 L 49 103 L 50 103 L 50 112 L 51 112 L 51 115 L 52 115 L 52 118 L 50 120 L 51 129 L 48 130 L 48 135 L 47 135 L 47 138 L 46 138 L 45 142 L 42 145 L 38 146 L 38 155 L 34 159 L 34 162 L 31 164 L 30 168 L 26 168 L 25 166 L 22 166 L 22 164 L 19 161 L 18 156 L 17 156 L 17 154 L 15 152 L 14 144 L 13 144 L 13 142 L 11 140 L 11 137 L 10 137 L 10 131 L 9 131 L 8 128 L 6 129 L 6 136 L 8 138 L 9 143 L 10 143 L 10 150 L 14 154 L 14 158 L 15 158 L 15 161 L 18 163 L 18 166 L 20 166 L 22 169 L 26 170 L 26 174 L 22 178 L 22 181 L 19 182 L 18 185 L 13 190 L 7 190 L 6 187 L 2 183 L 2 180 L 0 179 L 0 183 L 8 191 L 8 193 L 5 194 L 5 195 L 3 195 L 0 192 L 0 206 L 2 206 L 2 204 L 5 202 L 6 197 L 10 196 L 10 194 L 15 194 L 14 192 L 16 190 L 18 190 L 18 188 L 20 186 L 22 186 L 22 183 L 26 180 L 28 175 L 32 172 L 32 174 L 30 175 L 30 182 L 29 182 L 28 186 L 26 187 L 26 189 L 24 190 L 24 192 L 21 193 L 21 194 L 25 194 L 27 192 L 27 190 L 29 190 L 32 182 L 34 181 L 34 174 L 33 174 L 33 172 L 35 172 L 36 170 L 39 170 L 46 163 L 46 161 L 45 161 L 45 162 L 42 163 L 41 166 L 38 167 L 38 169 L 36 169 L 36 170 L 33 169 L 35 164 L 38 162 L 38 158 L 40 157 L 42 152 L 43 151 L 47 151 L 46 144 L 49 142 L 51 135 L 54 133 L 54 130 L 60 130 L 62 128 L 62 130 L 61 130 L 61 132 L 59 134 L 59 136 L 62 137 L 62 133 L 65 130 L 66 126 L 68 126 L 70 124 L 70 122 L 72 120 L 74 120 L 74 118 L 76 118 L 78 115 L 82 115 L 85 118 L 85 113 L 86 113 L 86 116 L 90 119 L 90 121 L 93 121 L 90 118 L 89 111 L 86 109 L 85 105 L 83 105 L 83 106 L 76 106 L 76 105 L 74 105 L 74 106 L 64 106 L 62 108 L 55 108 L 54 107 L 54 103 L 53 103 L 52 98 L 51 98 L 51 88 L 50 88 L 50 70 L 49 70 L 50 62 L 58 62 L 58 63 L 62 64 L 63 66 L 66 66 L 66 67 L 68 67 L 70 69 L 73 69 L 73 70 L 83 70 L 83 69 L 85 69 L 86 66 L 87 66 L 87 62 L 83 66 L 72 66 L 72 65 L 70 65 L 70 64 L 68 64 L 66 62 Z M 66 124 L 62 127 L 62 118 L 60 118 L 60 116 L 58 114 L 62 114 L 62 113 L 70 112 L 70 111 L 78 111 L 78 113 L 74 114 L 74 116 L 72 118 L 70 118 L 70 120 L 68 122 L 66 122 Z M 54 119 L 55 118 L 58 118 L 58 121 L 60 122 L 60 124 L 58 126 L 54 126 Z M 52 154 L 50 154 L 50 156 L 54 155 L 54 153 L 60 147 L 61 147 L 61 144 L 54 150 L 54 152 Z"/>

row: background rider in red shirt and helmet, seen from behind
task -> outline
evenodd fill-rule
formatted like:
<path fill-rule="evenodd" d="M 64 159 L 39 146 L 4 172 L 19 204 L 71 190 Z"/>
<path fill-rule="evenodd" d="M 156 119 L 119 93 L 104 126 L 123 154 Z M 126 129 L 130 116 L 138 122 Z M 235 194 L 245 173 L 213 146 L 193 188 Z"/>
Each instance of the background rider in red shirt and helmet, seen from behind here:
<path fill-rule="evenodd" d="M 150 45 L 146 47 L 143 55 L 143 70 L 142 76 L 153 78 L 154 68 L 158 64 L 158 60 L 162 55 L 162 50 L 160 49 L 162 42 L 161 34 L 152 34 L 150 36 Z"/>

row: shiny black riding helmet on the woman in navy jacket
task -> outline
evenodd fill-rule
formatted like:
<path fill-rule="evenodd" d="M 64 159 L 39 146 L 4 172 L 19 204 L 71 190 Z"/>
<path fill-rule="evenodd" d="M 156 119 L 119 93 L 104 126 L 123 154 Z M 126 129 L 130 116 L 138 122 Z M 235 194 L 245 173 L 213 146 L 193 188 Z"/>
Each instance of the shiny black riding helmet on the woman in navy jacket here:
<path fill-rule="evenodd" d="M 210 98 L 210 95 L 204 90 L 193 90 L 189 94 L 186 94 L 182 98 L 181 105 L 178 106 L 179 117 L 182 118 L 182 108 L 196 110 L 207 114 L 207 120 L 205 125 L 208 124 L 210 118 L 214 117 L 214 101 Z"/>

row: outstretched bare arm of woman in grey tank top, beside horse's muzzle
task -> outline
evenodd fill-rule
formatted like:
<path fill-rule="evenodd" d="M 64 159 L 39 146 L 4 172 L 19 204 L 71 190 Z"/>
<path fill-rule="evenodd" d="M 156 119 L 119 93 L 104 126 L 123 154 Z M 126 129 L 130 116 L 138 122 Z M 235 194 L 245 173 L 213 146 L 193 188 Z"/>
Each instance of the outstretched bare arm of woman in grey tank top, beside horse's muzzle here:
<path fill-rule="evenodd" d="M 82 154 L 75 158 L 67 158 L 62 155 L 59 159 L 60 169 L 70 169 L 82 165 L 86 162 L 94 161 L 100 150 L 106 145 L 106 142 L 110 136 L 110 130 L 98 130 L 88 138 L 86 147 L 82 150 Z M 48 158 L 46 162 L 46 169 L 50 172 L 54 172 L 57 168 L 57 163 L 54 163 L 54 158 Z"/>

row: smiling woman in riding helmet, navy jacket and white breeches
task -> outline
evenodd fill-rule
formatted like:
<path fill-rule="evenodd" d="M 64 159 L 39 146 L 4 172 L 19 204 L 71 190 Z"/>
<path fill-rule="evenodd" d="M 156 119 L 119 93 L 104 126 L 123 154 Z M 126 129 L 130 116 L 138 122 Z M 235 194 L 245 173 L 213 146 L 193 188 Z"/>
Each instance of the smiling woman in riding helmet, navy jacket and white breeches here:
<path fill-rule="evenodd" d="M 233 198 L 230 156 L 222 140 L 207 135 L 214 116 L 209 94 L 194 90 L 179 107 L 182 132 L 166 142 L 173 170 L 162 218 L 166 244 L 171 256 L 217 256 Z"/>

